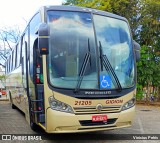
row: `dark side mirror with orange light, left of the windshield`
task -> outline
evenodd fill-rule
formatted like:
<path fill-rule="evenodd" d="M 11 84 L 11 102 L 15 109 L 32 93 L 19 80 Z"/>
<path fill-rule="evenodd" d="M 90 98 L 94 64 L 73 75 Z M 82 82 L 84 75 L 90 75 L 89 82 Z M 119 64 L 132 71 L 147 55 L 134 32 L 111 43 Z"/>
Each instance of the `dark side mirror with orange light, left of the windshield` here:
<path fill-rule="evenodd" d="M 41 55 L 49 53 L 49 26 L 47 23 L 41 23 L 38 29 L 38 48 Z"/>

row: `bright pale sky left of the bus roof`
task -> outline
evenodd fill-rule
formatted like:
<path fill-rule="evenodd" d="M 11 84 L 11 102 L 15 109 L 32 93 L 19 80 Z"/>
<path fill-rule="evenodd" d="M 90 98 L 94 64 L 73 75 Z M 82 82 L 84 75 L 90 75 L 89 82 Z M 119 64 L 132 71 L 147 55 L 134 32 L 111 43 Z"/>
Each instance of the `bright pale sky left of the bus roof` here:
<path fill-rule="evenodd" d="M 42 5 L 61 5 L 64 0 L 3 0 L 0 3 L 0 28 L 18 25 L 25 27 L 34 12 Z"/>

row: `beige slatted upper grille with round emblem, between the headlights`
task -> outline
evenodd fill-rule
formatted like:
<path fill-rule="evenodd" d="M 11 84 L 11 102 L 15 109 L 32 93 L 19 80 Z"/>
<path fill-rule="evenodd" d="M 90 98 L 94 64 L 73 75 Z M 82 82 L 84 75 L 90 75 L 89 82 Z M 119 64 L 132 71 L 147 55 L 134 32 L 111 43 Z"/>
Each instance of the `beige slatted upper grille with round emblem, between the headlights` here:
<path fill-rule="evenodd" d="M 96 106 L 83 106 L 74 107 L 74 113 L 76 115 L 82 114 L 105 114 L 105 113 L 118 113 L 121 111 L 121 106 L 103 106 L 100 112 L 97 111 Z"/>

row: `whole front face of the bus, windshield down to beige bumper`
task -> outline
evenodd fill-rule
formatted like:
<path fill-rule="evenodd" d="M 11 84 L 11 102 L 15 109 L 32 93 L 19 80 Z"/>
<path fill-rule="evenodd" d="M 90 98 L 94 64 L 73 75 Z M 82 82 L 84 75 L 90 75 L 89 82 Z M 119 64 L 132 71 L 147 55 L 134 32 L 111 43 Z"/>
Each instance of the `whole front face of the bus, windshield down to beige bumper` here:
<path fill-rule="evenodd" d="M 46 131 L 128 127 L 135 111 L 135 60 L 124 19 L 48 10 L 43 56 Z"/>

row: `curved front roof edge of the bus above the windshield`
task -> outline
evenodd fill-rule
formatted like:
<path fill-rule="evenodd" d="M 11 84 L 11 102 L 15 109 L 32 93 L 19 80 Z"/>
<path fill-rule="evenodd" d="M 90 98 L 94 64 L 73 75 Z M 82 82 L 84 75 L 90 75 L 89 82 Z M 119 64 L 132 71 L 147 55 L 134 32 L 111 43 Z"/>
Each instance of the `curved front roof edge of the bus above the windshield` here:
<path fill-rule="evenodd" d="M 113 14 L 113 13 L 110 13 L 110 12 L 97 10 L 97 9 L 92 9 L 92 8 L 79 7 L 79 6 L 72 6 L 72 5 L 52 6 L 52 5 L 50 5 L 50 6 L 42 6 L 41 8 L 44 8 L 45 10 L 89 12 L 89 13 L 109 16 L 109 17 L 113 17 L 113 18 L 122 19 L 122 20 L 127 21 L 126 18 L 124 18 L 122 16 L 119 16 L 119 15 L 116 15 L 116 14 Z"/>

